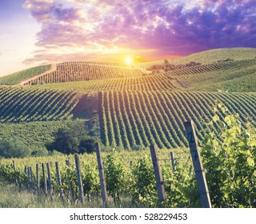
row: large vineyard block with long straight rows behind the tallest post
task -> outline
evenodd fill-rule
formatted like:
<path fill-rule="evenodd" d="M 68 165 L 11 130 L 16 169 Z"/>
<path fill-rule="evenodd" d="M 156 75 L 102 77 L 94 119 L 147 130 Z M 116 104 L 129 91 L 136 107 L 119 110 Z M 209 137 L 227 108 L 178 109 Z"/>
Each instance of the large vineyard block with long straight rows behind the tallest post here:
<path fill-rule="evenodd" d="M 98 98 L 102 142 L 127 149 L 150 144 L 187 146 L 182 123 L 189 119 L 194 120 L 202 140 L 218 102 L 231 113 L 238 112 L 242 125 L 256 116 L 255 94 L 126 90 L 99 92 Z M 223 120 L 223 114 L 219 116 Z"/>

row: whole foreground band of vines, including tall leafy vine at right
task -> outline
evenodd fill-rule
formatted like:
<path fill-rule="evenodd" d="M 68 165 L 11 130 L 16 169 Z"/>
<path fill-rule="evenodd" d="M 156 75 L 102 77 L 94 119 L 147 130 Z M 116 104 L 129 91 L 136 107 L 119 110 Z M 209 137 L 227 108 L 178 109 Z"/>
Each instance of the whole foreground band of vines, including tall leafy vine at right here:
<path fill-rule="evenodd" d="M 219 104 L 218 108 L 222 110 L 225 106 Z M 213 118 L 214 124 L 219 123 L 218 119 Z M 225 125 L 218 130 L 223 144 L 216 141 L 212 132 L 206 134 L 205 145 L 202 146 L 202 156 L 208 170 L 206 178 L 210 204 L 213 207 L 254 207 L 256 132 L 250 126 L 242 130 L 238 117 L 234 115 L 226 115 L 224 120 L 222 124 Z M 245 135 L 250 138 L 243 138 Z M 190 139 L 189 135 L 187 139 Z M 198 180 L 196 182 L 191 158 L 186 150 L 178 149 L 174 158 L 170 150 L 158 153 L 156 147 L 151 145 L 150 161 L 148 150 L 112 150 L 101 154 L 100 145 L 96 144 L 95 147 L 97 156 L 95 153 L 84 154 L 79 158 L 75 154 L 74 159 L 73 155 L 66 155 L 50 158 L 50 161 L 49 158 L 2 159 L 0 180 L 13 182 L 20 193 L 26 190 L 30 194 L 37 194 L 38 199 L 50 198 L 52 203 L 54 200 L 61 201 L 62 206 L 79 206 L 80 203 L 89 207 L 200 206 L 198 189 L 201 186 Z M 190 153 L 193 163 L 196 162 L 198 154 L 193 155 L 192 150 Z M 157 162 L 158 170 L 154 162 Z M 221 169 L 218 170 L 219 167 Z M 204 173 L 205 170 L 201 168 L 200 172 Z M 158 182 L 157 176 L 161 176 L 161 182 Z M 159 194 L 159 183 L 162 196 Z M 100 202 L 100 195 L 103 203 Z M 202 200 L 201 192 L 200 198 Z"/>

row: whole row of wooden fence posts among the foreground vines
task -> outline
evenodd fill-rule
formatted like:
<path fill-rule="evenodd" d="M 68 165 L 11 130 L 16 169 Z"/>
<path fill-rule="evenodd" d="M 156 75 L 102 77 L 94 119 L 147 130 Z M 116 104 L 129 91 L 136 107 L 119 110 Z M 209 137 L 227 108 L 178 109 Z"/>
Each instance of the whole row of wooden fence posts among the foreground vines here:
<path fill-rule="evenodd" d="M 189 142 L 190 146 L 190 154 L 191 158 L 193 161 L 194 165 L 194 172 L 195 176 L 198 182 L 198 190 L 200 194 L 200 199 L 202 202 L 202 207 L 210 208 L 210 194 L 207 188 L 206 184 L 206 178 L 204 174 L 204 170 L 202 167 L 202 162 L 200 158 L 200 154 L 198 151 L 198 140 L 195 135 L 195 130 L 194 130 L 194 123 L 192 121 L 185 122 L 184 123 L 186 127 L 186 134 L 187 134 L 187 139 Z M 102 155 L 101 155 L 101 148 L 100 145 L 97 143 L 95 145 L 96 148 L 96 155 L 97 155 L 97 162 L 98 162 L 98 176 L 100 179 L 100 186 L 101 186 L 101 193 L 102 193 L 102 203 L 104 207 L 108 207 L 109 204 L 109 197 L 107 194 L 107 187 L 106 187 L 106 178 L 104 174 L 104 162 L 102 161 Z M 158 150 L 157 147 L 152 145 L 150 146 L 150 154 L 151 154 L 151 160 L 153 163 L 153 169 L 154 169 L 154 177 L 155 177 L 155 185 L 157 187 L 157 192 L 158 192 L 158 200 L 159 202 L 164 202 L 166 200 L 166 194 L 165 194 L 165 185 L 164 185 L 164 180 L 162 178 L 162 172 L 161 172 L 161 167 L 159 163 L 159 158 L 158 158 Z M 80 160 L 79 160 L 79 155 L 74 154 L 74 162 L 75 162 L 75 167 L 76 167 L 76 174 L 77 174 L 77 185 L 78 185 L 78 190 L 79 190 L 79 201 L 84 204 L 85 203 L 85 198 L 84 198 L 84 186 L 83 186 L 83 180 L 82 180 L 82 171 L 81 171 L 81 166 L 80 166 Z M 172 169 L 170 172 L 175 172 L 176 167 L 175 167 L 175 158 L 174 158 L 174 153 L 170 152 L 170 163 Z M 66 160 L 66 166 L 70 167 L 70 161 Z M 133 162 L 130 161 L 130 167 L 133 166 Z M 22 181 L 21 181 L 21 172 L 16 171 L 16 166 L 15 162 L 13 161 L 11 164 L 12 169 L 14 172 L 17 174 L 13 182 L 18 185 L 19 192 L 22 191 Z M 42 183 L 39 182 L 39 164 L 36 164 L 36 174 L 33 174 L 33 170 L 31 166 L 25 166 L 24 173 L 26 174 L 26 178 L 23 180 L 23 187 L 26 190 L 29 190 L 30 192 L 34 192 L 38 194 L 38 196 L 42 193 L 44 195 L 50 196 L 51 200 L 54 200 L 54 192 L 53 185 L 52 185 L 52 174 L 51 174 L 51 169 L 53 168 L 52 163 L 46 163 L 46 170 L 47 170 L 47 177 L 46 177 L 46 170 L 45 170 L 45 164 L 42 163 Z M 5 170 L 6 168 L 2 166 L 2 170 Z M 69 183 L 69 190 L 70 190 L 70 195 L 64 195 L 64 192 L 62 190 L 62 178 L 61 173 L 58 167 L 58 162 L 55 162 L 55 170 L 56 170 L 56 179 L 58 182 L 58 190 L 55 189 L 55 191 L 58 191 L 59 198 L 63 203 L 65 203 L 67 200 L 66 198 L 70 198 L 70 203 L 73 204 L 75 202 L 75 197 L 74 197 L 74 189 L 72 186 L 71 178 L 70 178 L 70 170 L 66 170 L 66 178 Z M 34 184 L 36 186 L 34 186 Z M 88 196 L 89 200 L 89 196 Z"/>

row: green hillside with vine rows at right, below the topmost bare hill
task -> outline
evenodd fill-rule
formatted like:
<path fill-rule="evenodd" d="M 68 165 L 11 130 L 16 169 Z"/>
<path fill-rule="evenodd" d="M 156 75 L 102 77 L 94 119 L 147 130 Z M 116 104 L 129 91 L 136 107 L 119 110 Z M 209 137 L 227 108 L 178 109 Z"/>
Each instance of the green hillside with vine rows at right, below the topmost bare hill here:
<path fill-rule="evenodd" d="M 186 90 L 190 91 L 256 91 L 256 59 L 188 66 L 165 74 L 189 86 Z"/>

